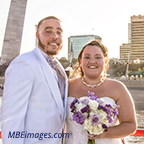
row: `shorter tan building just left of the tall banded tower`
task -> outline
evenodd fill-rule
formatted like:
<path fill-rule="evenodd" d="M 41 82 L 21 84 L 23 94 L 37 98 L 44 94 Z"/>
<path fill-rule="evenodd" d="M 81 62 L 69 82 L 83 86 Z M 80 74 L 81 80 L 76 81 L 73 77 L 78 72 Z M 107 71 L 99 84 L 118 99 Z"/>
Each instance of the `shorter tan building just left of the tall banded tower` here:
<path fill-rule="evenodd" d="M 130 50 L 131 50 L 131 44 L 130 43 L 123 43 L 122 46 L 120 46 L 120 61 L 122 61 L 122 62 L 128 62 L 129 61 Z"/>

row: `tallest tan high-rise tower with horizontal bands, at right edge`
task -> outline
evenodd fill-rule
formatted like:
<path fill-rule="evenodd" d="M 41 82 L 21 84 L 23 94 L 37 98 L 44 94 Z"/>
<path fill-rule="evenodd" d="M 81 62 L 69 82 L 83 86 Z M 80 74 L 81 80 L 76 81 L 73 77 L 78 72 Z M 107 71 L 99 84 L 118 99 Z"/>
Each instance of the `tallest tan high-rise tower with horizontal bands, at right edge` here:
<path fill-rule="evenodd" d="M 144 15 L 131 17 L 131 60 L 144 62 Z"/>

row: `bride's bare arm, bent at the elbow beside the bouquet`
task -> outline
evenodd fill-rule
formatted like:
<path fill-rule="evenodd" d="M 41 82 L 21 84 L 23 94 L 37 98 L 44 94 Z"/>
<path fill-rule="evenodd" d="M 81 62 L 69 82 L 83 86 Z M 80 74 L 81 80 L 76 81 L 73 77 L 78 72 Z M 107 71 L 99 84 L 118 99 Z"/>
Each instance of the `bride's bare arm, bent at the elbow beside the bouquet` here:
<path fill-rule="evenodd" d="M 137 122 L 135 115 L 135 106 L 131 94 L 127 88 L 119 82 L 116 82 L 113 89 L 117 90 L 117 105 L 119 105 L 118 120 L 119 124 L 109 127 L 107 132 L 97 135 L 96 138 L 123 138 L 136 131 Z"/>

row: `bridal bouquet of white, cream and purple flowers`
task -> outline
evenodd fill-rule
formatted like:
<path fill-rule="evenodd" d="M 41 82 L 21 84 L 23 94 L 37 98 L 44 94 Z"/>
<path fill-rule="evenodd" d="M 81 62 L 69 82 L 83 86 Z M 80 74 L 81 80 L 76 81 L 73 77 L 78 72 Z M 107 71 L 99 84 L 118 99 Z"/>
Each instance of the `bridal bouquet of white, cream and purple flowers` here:
<path fill-rule="evenodd" d="M 88 134 L 99 135 L 108 131 L 108 125 L 118 115 L 116 104 L 106 104 L 102 98 L 88 92 L 88 97 L 75 98 L 70 105 L 73 121 L 83 125 Z M 87 144 L 95 144 L 95 140 L 88 139 Z"/>

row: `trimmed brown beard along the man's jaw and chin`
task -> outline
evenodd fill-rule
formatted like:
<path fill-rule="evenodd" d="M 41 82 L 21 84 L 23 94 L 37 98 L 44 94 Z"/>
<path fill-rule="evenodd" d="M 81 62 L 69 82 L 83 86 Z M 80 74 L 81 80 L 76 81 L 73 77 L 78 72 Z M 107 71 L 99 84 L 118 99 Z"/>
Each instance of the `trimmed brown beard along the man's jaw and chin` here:
<path fill-rule="evenodd" d="M 59 53 L 59 51 L 61 50 L 61 47 L 57 50 L 57 51 L 50 51 L 50 50 L 47 50 L 45 47 L 48 47 L 48 45 L 44 45 L 42 42 L 41 42 L 41 40 L 40 40 L 40 38 L 38 39 L 38 46 L 40 46 L 41 48 L 42 48 L 42 50 L 46 53 L 46 54 L 48 54 L 48 55 L 57 55 L 58 53 Z"/>

